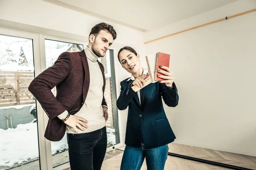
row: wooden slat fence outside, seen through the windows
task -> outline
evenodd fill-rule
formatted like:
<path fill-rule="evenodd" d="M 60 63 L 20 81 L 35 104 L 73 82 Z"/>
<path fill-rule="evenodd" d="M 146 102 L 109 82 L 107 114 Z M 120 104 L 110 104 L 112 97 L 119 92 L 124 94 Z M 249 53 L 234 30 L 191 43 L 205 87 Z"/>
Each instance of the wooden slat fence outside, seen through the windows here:
<path fill-rule="evenodd" d="M 0 107 L 34 104 L 33 95 L 28 90 L 33 79 L 34 72 L 32 71 L 0 71 Z M 55 91 L 55 88 L 53 88 L 53 94 L 56 93 Z M 106 126 L 113 129 L 111 78 L 106 81 L 104 96 L 109 111 Z"/>

